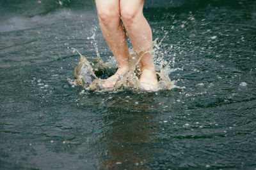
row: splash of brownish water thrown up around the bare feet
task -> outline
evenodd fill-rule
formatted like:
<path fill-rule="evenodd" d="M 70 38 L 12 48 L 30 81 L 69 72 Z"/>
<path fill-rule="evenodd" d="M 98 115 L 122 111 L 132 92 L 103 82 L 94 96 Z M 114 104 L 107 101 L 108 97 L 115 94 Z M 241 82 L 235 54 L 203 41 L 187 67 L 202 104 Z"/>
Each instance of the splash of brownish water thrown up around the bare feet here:
<path fill-rule="evenodd" d="M 93 29 L 95 30 L 95 28 Z M 168 32 L 165 32 L 164 37 L 161 39 L 159 43 L 157 43 L 157 39 L 154 40 L 153 45 L 156 49 L 161 48 L 161 43 L 163 39 L 166 37 Z M 93 39 L 93 45 L 95 46 L 95 50 L 97 53 L 97 57 L 85 57 L 81 53 L 79 53 L 75 48 L 72 48 L 74 52 L 76 51 L 80 55 L 80 61 L 77 64 L 76 68 L 74 69 L 74 76 L 76 79 L 76 85 L 82 85 L 86 90 L 96 90 L 96 91 L 113 91 L 113 90 L 122 90 L 122 89 L 134 89 L 140 90 L 140 69 L 138 65 L 140 63 L 141 58 L 146 53 L 155 53 L 156 50 L 150 50 L 146 52 L 141 52 L 139 55 L 136 55 L 135 52 L 130 50 L 129 56 L 129 69 L 127 72 L 122 74 L 115 83 L 113 88 L 104 89 L 102 88 L 102 83 L 104 80 L 100 78 L 103 74 L 110 74 L 113 70 L 117 69 L 117 64 L 113 65 L 113 62 L 109 60 L 108 62 L 104 62 L 99 55 L 99 50 L 97 48 L 97 43 L 95 41 L 95 32 L 91 37 Z M 140 56 L 140 57 L 138 57 Z M 175 60 L 175 59 L 173 59 Z M 176 81 L 171 80 L 169 75 L 171 72 L 176 71 L 177 69 L 170 69 L 170 66 L 166 60 L 163 59 L 163 56 L 157 58 L 156 65 L 156 74 L 157 79 L 159 80 L 159 85 L 156 90 L 171 90 L 174 88 L 180 88 L 175 85 Z"/>

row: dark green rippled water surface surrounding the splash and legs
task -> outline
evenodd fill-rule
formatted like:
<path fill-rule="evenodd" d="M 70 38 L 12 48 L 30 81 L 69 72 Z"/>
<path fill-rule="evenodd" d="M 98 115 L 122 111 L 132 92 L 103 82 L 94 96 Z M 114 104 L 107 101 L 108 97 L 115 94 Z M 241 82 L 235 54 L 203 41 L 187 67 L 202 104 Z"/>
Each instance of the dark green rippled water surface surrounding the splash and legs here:
<path fill-rule="evenodd" d="M 144 12 L 185 89 L 72 87 L 70 48 L 111 56 L 94 2 L 0 1 L 0 169 L 256 169 L 256 1 Z"/>

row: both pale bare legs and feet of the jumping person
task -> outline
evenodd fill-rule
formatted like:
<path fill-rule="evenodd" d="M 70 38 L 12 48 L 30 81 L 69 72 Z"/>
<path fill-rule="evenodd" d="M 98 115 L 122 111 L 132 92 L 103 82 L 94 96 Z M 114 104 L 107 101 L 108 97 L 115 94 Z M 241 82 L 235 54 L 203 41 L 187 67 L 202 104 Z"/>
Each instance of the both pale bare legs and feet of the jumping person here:
<path fill-rule="evenodd" d="M 126 30 L 134 52 L 138 53 L 139 57 L 143 53 L 140 60 L 142 87 L 145 90 L 157 87 L 152 59 L 152 31 L 143 15 L 144 0 L 95 0 L 95 2 L 102 34 L 119 66 L 116 73 L 104 81 L 102 86 L 113 87 L 118 77 L 129 69 Z"/>

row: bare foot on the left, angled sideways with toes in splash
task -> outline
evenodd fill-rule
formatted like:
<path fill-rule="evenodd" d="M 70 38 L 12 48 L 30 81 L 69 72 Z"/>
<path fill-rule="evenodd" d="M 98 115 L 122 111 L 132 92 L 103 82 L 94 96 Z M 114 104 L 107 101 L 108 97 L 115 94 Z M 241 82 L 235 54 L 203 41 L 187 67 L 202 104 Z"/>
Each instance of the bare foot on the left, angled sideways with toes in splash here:
<path fill-rule="evenodd" d="M 128 71 L 128 66 L 124 66 L 124 67 L 119 67 L 116 71 L 115 74 L 113 74 L 113 76 L 110 76 L 109 78 L 107 78 L 106 80 L 104 80 L 102 87 L 104 88 L 110 88 L 110 87 L 114 87 L 116 81 L 118 80 L 118 78 L 124 74 L 126 71 Z"/>

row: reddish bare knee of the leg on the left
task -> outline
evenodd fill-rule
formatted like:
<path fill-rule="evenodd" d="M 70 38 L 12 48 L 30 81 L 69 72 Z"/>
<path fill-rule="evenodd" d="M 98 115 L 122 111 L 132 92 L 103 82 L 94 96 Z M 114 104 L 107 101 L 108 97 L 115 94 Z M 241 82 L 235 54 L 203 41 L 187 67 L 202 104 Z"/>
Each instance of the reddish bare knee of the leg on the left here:
<path fill-rule="evenodd" d="M 120 20 L 120 15 L 111 10 L 98 11 L 98 17 L 104 25 L 110 25 Z"/>

